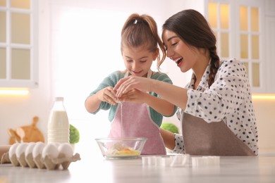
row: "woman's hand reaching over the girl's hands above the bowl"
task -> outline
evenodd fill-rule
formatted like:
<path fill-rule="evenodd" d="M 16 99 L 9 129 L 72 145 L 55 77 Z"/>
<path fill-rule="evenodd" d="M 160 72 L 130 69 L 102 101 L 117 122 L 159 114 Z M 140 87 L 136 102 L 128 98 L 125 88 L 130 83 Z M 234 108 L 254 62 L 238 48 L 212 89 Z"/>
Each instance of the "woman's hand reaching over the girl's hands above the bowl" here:
<path fill-rule="evenodd" d="M 116 97 L 121 97 L 123 94 L 130 92 L 132 89 L 138 89 L 140 91 L 151 92 L 150 84 L 152 80 L 147 77 L 129 76 L 118 81 L 114 90 L 116 91 Z"/>

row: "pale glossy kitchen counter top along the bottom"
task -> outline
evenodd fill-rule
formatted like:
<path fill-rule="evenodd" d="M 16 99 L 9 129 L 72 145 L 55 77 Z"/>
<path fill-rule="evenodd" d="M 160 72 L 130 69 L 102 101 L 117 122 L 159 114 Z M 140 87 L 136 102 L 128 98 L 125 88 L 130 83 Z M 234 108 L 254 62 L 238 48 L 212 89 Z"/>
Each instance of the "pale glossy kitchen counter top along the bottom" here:
<path fill-rule="evenodd" d="M 106 160 L 80 154 L 68 170 L 0 165 L 0 183 L 13 182 L 275 182 L 275 156 L 221 156 L 219 166 L 142 165 L 142 158 Z M 191 156 L 192 157 L 192 156 Z"/>

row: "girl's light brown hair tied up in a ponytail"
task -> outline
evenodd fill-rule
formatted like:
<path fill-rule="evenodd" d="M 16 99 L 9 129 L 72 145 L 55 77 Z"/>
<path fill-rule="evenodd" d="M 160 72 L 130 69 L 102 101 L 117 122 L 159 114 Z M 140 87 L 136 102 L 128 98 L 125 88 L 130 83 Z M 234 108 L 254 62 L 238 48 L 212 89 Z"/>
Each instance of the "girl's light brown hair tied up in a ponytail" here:
<path fill-rule="evenodd" d="M 128 17 L 121 30 L 121 51 L 123 46 L 138 47 L 146 45 L 149 51 L 161 50 L 162 56 L 157 57 L 157 69 L 164 62 L 166 51 L 157 32 L 157 23 L 146 14 L 133 13 Z"/>

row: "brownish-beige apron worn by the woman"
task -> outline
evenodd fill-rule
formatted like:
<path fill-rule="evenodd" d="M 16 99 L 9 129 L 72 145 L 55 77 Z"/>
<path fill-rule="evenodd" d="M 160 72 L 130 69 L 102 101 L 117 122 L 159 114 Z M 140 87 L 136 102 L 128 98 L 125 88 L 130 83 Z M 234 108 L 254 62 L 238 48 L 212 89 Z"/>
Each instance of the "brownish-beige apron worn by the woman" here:
<path fill-rule="evenodd" d="M 224 121 L 205 122 L 188 113 L 181 116 L 185 153 L 200 156 L 255 156 Z"/>

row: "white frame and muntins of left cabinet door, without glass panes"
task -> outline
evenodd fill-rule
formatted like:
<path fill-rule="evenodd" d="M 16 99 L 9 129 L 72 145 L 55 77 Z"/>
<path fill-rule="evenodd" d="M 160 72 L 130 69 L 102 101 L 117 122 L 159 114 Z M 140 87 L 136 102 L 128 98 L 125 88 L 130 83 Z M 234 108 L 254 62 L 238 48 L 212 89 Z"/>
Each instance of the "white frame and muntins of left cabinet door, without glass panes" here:
<path fill-rule="evenodd" d="M 0 78 L 0 87 L 38 87 L 38 1 L 30 0 L 30 9 L 11 8 L 11 0 L 0 11 L 6 12 L 6 42 L 0 42 L 0 48 L 6 49 L 6 78 Z M 11 13 L 30 15 L 30 44 L 11 43 Z M 11 78 L 11 49 L 30 50 L 30 80 Z"/>

